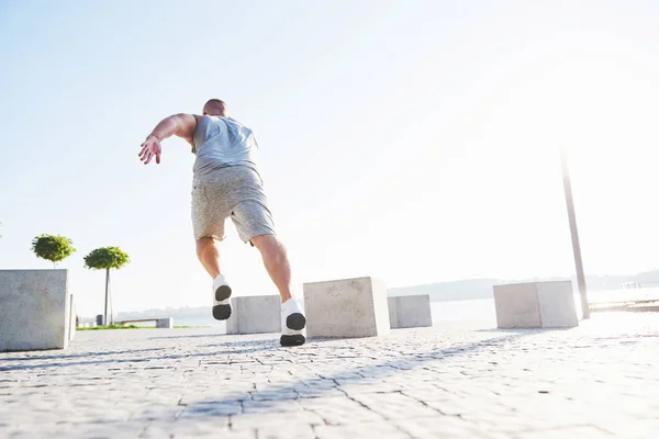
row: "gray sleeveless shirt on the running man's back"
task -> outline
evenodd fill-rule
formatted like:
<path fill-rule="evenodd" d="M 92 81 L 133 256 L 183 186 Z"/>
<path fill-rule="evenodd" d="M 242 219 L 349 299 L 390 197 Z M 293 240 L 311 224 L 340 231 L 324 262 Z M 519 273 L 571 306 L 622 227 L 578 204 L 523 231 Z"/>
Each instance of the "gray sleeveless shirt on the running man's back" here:
<path fill-rule="evenodd" d="M 227 166 L 247 166 L 258 173 L 258 144 L 252 130 L 231 117 L 203 116 L 192 136 L 194 177 L 209 177 Z"/>

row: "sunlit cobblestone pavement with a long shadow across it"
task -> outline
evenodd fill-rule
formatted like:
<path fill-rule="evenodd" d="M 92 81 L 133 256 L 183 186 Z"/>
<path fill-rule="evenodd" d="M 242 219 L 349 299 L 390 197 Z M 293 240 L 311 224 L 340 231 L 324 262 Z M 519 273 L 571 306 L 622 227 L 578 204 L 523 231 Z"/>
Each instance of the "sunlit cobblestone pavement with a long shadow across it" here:
<path fill-rule="evenodd" d="M 657 438 L 659 315 L 311 340 L 78 333 L 0 353 L 0 437 Z"/>

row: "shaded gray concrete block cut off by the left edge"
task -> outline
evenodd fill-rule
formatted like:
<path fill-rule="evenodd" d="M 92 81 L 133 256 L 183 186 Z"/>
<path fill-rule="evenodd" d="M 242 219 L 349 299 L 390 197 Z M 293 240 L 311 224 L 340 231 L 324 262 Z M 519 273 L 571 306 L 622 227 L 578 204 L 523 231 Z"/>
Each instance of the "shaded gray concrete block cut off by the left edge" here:
<path fill-rule="evenodd" d="M 0 351 L 66 349 L 68 270 L 0 270 Z"/>

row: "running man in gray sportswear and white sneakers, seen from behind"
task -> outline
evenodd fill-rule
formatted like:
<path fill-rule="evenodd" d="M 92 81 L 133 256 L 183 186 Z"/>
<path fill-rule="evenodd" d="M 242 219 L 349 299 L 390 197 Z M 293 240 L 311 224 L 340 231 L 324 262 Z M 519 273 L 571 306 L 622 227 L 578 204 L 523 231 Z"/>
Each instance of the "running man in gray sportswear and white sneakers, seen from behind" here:
<path fill-rule="evenodd" d="M 258 173 L 252 130 L 226 113 L 226 104 L 211 99 L 203 115 L 175 114 L 164 119 L 142 144 L 141 160 L 160 162 L 160 142 L 176 135 L 197 156 L 192 183 L 192 227 L 197 256 L 213 279 L 213 317 L 231 316 L 231 286 L 220 271 L 215 240 L 223 240 L 231 217 L 241 239 L 256 247 L 281 295 L 282 346 L 303 345 L 306 325 L 300 304 L 291 295 L 291 268 L 286 249 L 275 234 L 272 215 Z"/>

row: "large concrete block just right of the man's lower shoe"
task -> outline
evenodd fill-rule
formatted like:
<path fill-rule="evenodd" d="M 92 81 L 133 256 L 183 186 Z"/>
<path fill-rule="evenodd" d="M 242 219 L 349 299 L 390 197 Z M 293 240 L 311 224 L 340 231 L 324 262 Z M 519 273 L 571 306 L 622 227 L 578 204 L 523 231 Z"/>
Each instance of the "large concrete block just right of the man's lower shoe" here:
<path fill-rule="evenodd" d="M 373 278 L 304 284 L 306 335 L 375 337 L 389 333 L 387 288 Z"/>

